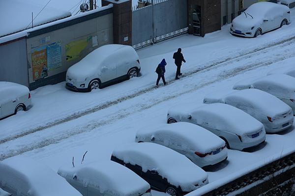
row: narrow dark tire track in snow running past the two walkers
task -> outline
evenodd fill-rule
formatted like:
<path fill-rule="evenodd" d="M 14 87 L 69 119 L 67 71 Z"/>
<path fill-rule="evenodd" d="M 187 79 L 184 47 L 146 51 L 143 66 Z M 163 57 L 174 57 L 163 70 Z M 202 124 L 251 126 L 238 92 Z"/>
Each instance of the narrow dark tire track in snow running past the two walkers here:
<path fill-rule="evenodd" d="M 252 51 L 243 53 L 241 55 L 236 55 L 234 57 L 228 57 L 228 58 L 225 58 L 225 59 L 217 61 L 217 62 L 212 62 L 211 64 L 205 65 L 202 68 L 198 68 L 198 69 L 193 70 L 191 72 L 184 73 L 185 76 L 183 76 L 183 78 L 187 77 L 187 76 L 191 76 L 191 75 L 193 75 L 195 73 L 206 71 L 206 70 L 211 69 L 213 67 L 220 67 L 220 66 L 224 66 L 225 64 L 234 62 L 234 61 L 241 61 L 243 59 L 250 58 L 254 54 L 259 55 L 260 53 L 266 53 L 267 51 L 271 51 L 276 47 L 284 47 L 284 46 L 290 45 L 290 44 L 292 44 L 294 42 L 295 42 L 295 36 L 291 37 L 291 38 L 288 38 L 288 39 L 285 39 L 285 40 L 282 40 L 282 41 L 279 41 L 279 42 L 268 44 L 266 46 L 254 49 Z M 171 85 L 171 84 L 173 84 L 175 82 L 175 80 L 170 79 L 170 80 L 167 80 L 167 82 L 168 82 L 168 85 Z M 44 130 L 44 129 L 47 129 L 47 128 L 50 128 L 50 127 L 53 127 L 53 126 L 56 126 L 56 125 L 61 124 L 61 123 L 72 121 L 74 119 L 80 118 L 82 116 L 91 114 L 91 113 L 99 111 L 99 110 L 106 109 L 106 108 L 108 108 L 110 106 L 113 106 L 113 105 L 116 105 L 116 104 L 118 104 L 118 103 L 120 103 L 122 101 L 138 97 L 138 96 L 140 96 L 142 94 L 153 91 L 155 89 L 157 89 L 157 88 L 154 87 L 154 84 L 152 83 L 152 84 L 150 84 L 149 87 L 141 89 L 139 91 L 135 91 L 134 93 L 132 93 L 130 95 L 123 96 L 123 97 L 118 98 L 118 99 L 113 100 L 113 101 L 107 101 L 107 102 L 101 103 L 101 104 L 99 104 L 99 105 L 97 105 L 97 106 L 95 106 L 93 108 L 88 109 L 88 110 L 84 110 L 84 111 L 81 111 L 81 112 L 78 112 L 78 113 L 74 113 L 74 114 L 72 114 L 70 116 L 67 116 L 67 117 L 63 118 L 63 119 L 59 119 L 57 121 L 47 123 L 44 126 L 38 126 L 38 127 L 32 128 L 32 129 L 26 129 L 24 131 L 21 131 L 21 133 L 18 133 L 18 134 L 3 138 L 3 139 L 0 140 L 0 144 L 15 140 L 17 138 L 27 136 L 29 134 L 32 134 L 32 133 L 35 133 L 35 132 L 38 132 L 38 131 L 41 131 L 41 130 Z"/>

